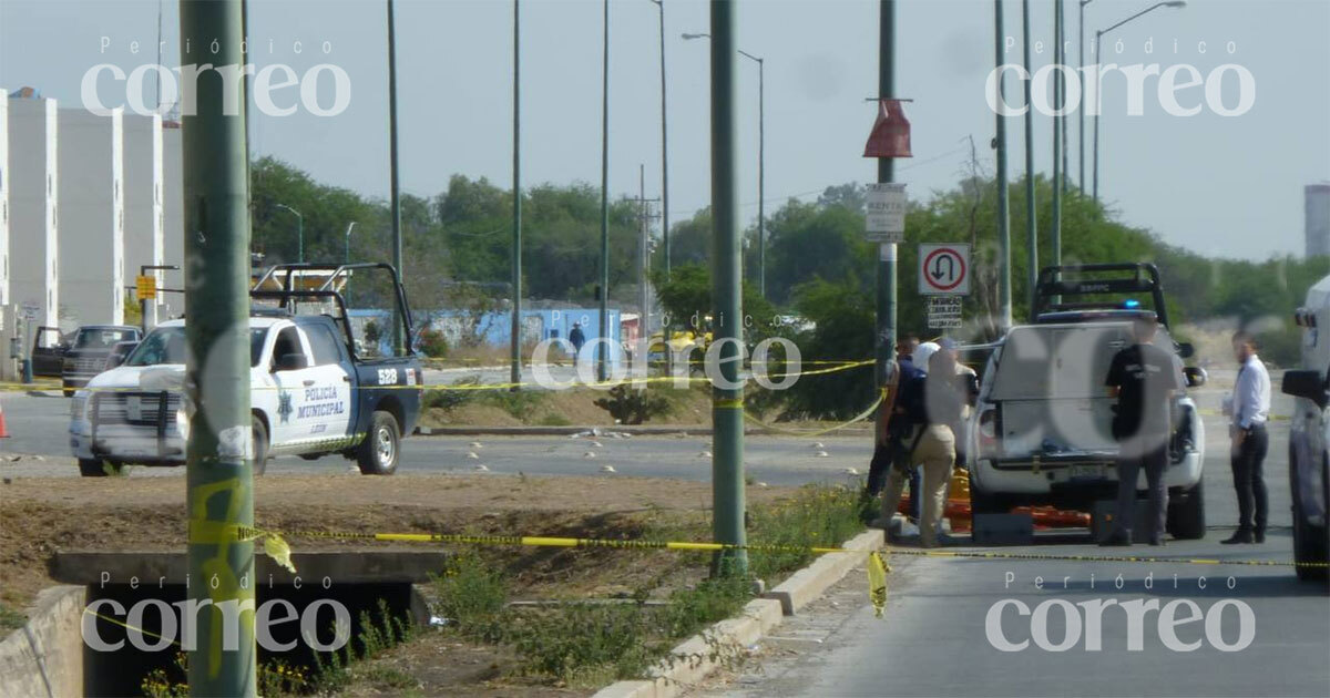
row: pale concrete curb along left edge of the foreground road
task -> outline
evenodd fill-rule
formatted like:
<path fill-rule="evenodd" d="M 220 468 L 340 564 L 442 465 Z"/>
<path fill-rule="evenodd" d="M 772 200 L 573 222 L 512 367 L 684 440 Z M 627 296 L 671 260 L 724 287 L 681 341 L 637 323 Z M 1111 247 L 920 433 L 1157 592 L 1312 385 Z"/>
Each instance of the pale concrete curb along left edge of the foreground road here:
<path fill-rule="evenodd" d="M 874 550 L 883 544 L 882 530 L 866 530 L 843 545 L 851 550 Z M 749 601 L 735 618 L 724 620 L 701 634 L 676 645 L 676 657 L 688 657 L 672 665 L 661 665 L 654 681 L 620 681 L 596 691 L 592 698 L 673 698 L 689 686 L 700 683 L 708 674 L 720 669 L 720 662 L 712 654 L 716 643 L 733 643 L 747 647 L 766 636 L 785 616 L 809 601 L 822 596 L 833 584 L 863 560 L 858 553 L 829 553 L 818 557 L 811 565 L 795 572 L 789 580 L 763 594 L 763 598 Z"/>

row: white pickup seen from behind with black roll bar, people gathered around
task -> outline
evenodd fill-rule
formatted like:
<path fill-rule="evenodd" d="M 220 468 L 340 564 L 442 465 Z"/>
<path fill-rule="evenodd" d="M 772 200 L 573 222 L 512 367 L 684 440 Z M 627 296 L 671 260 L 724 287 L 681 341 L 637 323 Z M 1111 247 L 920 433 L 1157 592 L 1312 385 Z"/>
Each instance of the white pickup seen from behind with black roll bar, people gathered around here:
<path fill-rule="evenodd" d="M 1117 274 L 1103 278 L 1103 274 Z M 1124 273 L 1130 275 L 1124 278 Z M 1087 278 L 1091 277 L 1091 278 Z M 1133 299 L 1064 303 L 1063 296 L 1148 292 L 1160 328 L 1154 344 L 1180 359 L 1190 346 L 1168 331 L 1158 273 L 1153 265 L 1049 267 L 1040 274 L 1036 323 L 1012 327 L 990 354 L 970 428 L 971 505 L 975 513 L 1053 504 L 1088 511 L 1117 491 L 1117 443 L 1112 437 L 1116 400 L 1104 380 L 1113 355 L 1132 343 L 1132 320 L 1142 314 Z M 1185 370 L 1188 386 L 1205 374 Z M 1174 537 L 1205 534 L 1201 468 L 1204 423 L 1185 391 L 1173 398 L 1168 528 Z M 1137 484 L 1145 489 L 1144 472 Z"/>

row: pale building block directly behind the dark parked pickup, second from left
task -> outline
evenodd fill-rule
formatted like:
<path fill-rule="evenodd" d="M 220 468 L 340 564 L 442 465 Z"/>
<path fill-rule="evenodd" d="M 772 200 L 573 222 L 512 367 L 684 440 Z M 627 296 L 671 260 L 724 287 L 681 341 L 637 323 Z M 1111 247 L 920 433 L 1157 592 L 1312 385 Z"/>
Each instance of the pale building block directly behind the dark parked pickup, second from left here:
<path fill-rule="evenodd" d="M 60 118 L 61 319 L 125 322 L 124 112 L 63 109 Z"/>

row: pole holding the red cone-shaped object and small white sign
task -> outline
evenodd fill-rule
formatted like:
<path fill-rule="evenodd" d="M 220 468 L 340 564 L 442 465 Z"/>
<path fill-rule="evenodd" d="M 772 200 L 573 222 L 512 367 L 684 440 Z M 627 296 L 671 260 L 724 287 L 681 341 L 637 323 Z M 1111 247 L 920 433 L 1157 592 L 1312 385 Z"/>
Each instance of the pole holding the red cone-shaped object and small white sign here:
<path fill-rule="evenodd" d="M 878 97 L 896 94 L 896 3 L 879 0 Z M 895 181 L 895 160 L 878 158 L 878 183 Z M 884 386 L 896 360 L 896 243 L 883 242 L 878 251 L 878 383 Z"/>

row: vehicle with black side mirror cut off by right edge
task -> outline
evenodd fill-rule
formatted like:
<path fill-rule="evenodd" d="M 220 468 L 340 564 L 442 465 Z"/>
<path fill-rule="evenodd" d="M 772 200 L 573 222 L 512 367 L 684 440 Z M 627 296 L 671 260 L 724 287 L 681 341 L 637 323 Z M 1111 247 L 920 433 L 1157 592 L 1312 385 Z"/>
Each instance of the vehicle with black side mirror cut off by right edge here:
<path fill-rule="evenodd" d="M 1330 331 L 1330 277 L 1307 291 L 1294 319 L 1302 327 L 1302 364 L 1285 371 L 1282 386 L 1298 398 L 1289 423 L 1293 557 L 1298 577 L 1323 581 L 1330 560 L 1330 336 L 1321 334 L 1321 326 Z"/>

